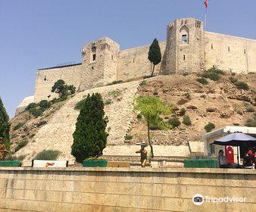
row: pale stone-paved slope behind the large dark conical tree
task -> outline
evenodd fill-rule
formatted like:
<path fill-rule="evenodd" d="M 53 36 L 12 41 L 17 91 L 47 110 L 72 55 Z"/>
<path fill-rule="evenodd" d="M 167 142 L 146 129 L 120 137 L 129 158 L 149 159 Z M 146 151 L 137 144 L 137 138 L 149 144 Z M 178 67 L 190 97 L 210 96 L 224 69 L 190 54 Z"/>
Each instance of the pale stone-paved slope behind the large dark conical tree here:
<path fill-rule="evenodd" d="M 44 126 L 38 129 L 33 141 L 17 151 L 15 155 L 25 155 L 24 160 L 26 161 L 31 160 L 36 153 L 44 149 L 52 149 L 61 151 L 60 159 L 66 159 L 72 163 L 74 158 L 70 154 L 70 147 L 73 144 L 72 135 L 79 114 L 79 111 L 75 111 L 74 107 L 77 102 L 92 92 L 100 92 L 105 101 L 111 100 L 111 104 L 105 105 L 105 114 L 109 119 L 107 126 L 108 145 L 124 145 L 123 138 L 133 119 L 133 100 L 138 86 L 139 81 L 136 81 L 77 93 L 56 111 Z M 20 116 L 22 115 L 24 114 L 20 114 Z"/>

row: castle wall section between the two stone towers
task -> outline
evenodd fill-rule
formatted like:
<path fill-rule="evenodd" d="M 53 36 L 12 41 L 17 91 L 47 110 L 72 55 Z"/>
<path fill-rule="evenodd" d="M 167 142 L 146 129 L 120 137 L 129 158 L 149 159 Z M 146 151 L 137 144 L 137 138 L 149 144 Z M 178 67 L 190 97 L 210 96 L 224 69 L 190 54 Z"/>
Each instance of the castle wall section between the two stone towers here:
<path fill-rule="evenodd" d="M 166 47 L 166 41 L 159 42 L 162 58 Z M 138 48 L 130 48 L 120 51 L 117 64 L 117 80 L 128 80 L 151 74 L 152 65 L 148 61 L 148 50 L 150 45 Z M 161 63 L 155 66 L 155 73 L 161 70 Z"/>

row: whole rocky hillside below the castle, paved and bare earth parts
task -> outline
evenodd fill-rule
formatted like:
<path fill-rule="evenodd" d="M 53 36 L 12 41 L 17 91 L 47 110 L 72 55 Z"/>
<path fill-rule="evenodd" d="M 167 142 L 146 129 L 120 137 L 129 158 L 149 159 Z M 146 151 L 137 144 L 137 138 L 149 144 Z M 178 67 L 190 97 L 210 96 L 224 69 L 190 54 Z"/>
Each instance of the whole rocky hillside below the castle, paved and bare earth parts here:
<path fill-rule="evenodd" d="M 248 83 L 249 89 L 239 89 L 229 77 Z M 208 79 L 208 84 L 204 85 L 197 82 L 197 74 L 173 74 L 79 92 L 65 101 L 52 104 L 37 118 L 28 111 L 14 117 L 11 120 L 12 151 L 20 160 L 27 161 L 44 149 L 52 149 L 61 151 L 60 159 L 73 161 L 70 146 L 79 114 L 74 107 L 92 92 L 100 92 L 105 100 L 105 113 L 109 119 L 108 145 L 134 145 L 146 139 L 145 122 L 137 117 L 137 111 L 133 111 L 136 95 L 156 95 L 162 101 L 174 104 L 173 114 L 162 118 L 164 121 L 173 116 L 180 119 L 181 125 L 174 129 L 151 130 L 154 143 L 186 145 L 188 141 L 200 140 L 200 136 L 206 133 L 204 126 L 209 122 L 214 123 L 215 129 L 226 125 L 245 125 L 254 115 L 255 78 L 255 74 L 226 74 L 219 81 Z M 183 123 L 181 108 L 185 108 L 191 125 Z"/>

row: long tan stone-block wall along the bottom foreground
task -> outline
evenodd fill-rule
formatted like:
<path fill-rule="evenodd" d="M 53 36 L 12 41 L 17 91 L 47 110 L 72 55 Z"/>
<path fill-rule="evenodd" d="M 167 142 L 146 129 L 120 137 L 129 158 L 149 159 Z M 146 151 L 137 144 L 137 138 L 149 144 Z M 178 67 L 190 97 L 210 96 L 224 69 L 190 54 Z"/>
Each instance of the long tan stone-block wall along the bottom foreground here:
<path fill-rule="evenodd" d="M 256 211 L 254 170 L 0 168 L 0 211 Z M 195 194 L 245 203 L 192 203 Z"/>

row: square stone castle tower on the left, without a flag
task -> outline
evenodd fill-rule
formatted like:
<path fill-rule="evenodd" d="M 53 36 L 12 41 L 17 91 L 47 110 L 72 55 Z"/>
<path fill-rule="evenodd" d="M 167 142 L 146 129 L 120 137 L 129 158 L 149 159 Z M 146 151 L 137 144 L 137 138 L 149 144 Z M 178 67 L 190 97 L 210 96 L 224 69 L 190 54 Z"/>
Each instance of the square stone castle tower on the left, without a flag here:
<path fill-rule="evenodd" d="M 80 90 L 105 85 L 117 80 L 119 44 L 108 37 L 83 46 Z"/>

